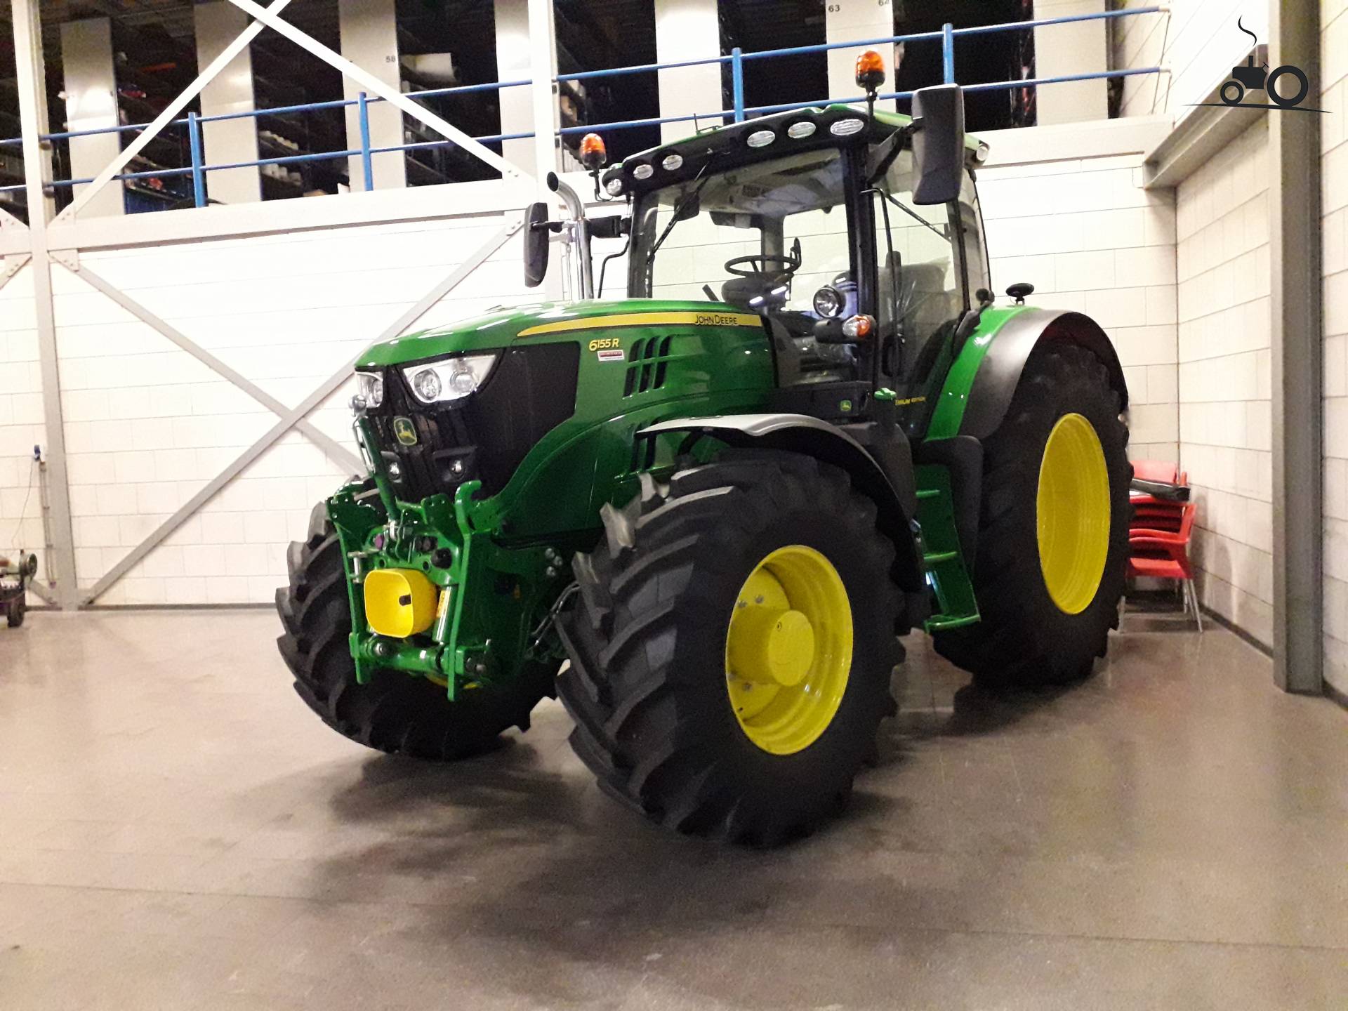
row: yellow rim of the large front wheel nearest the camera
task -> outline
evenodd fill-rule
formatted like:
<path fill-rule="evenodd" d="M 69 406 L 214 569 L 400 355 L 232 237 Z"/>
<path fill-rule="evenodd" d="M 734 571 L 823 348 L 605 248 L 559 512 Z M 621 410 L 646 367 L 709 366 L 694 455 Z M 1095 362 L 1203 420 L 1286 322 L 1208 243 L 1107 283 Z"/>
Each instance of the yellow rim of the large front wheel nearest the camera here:
<path fill-rule="evenodd" d="M 790 545 L 754 566 L 725 636 L 725 690 L 745 736 L 772 755 L 810 747 L 851 669 L 852 605 L 833 563 Z"/>

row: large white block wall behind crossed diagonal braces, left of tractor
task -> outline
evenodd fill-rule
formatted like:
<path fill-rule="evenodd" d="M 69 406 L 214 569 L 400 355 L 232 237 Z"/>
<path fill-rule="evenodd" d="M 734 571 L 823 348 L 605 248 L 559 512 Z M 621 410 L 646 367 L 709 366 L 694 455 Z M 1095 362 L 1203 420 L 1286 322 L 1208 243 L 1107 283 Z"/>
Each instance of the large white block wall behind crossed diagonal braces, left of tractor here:
<path fill-rule="evenodd" d="M 298 403 L 499 228 L 491 218 L 377 225 L 100 252 L 81 266 L 272 396 Z M 421 326 L 524 301 L 520 264 L 515 239 Z M 90 586 L 276 417 L 78 274 L 58 267 L 53 282 L 75 569 Z M 344 387 L 310 415 L 346 445 L 349 398 Z M 286 545 L 303 537 L 310 508 L 342 477 L 291 431 L 100 603 L 270 601 Z"/>

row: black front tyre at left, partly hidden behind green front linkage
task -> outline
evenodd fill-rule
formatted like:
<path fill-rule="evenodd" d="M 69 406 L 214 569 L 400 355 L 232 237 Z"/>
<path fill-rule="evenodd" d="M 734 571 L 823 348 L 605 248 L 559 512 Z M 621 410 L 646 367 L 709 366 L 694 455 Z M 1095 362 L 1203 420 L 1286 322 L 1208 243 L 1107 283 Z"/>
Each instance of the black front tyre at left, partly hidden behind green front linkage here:
<path fill-rule="evenodd" d="M 309 539 L 291 543 L 287 563 L 290 586 L 276 590 L 284 627 L 276 644 L 295 692 L 344 737 L 391 755 L 448 762 L 489 751 L 511 727 L 527 731 L 538 701 L 557 697 L 559 662 L 531 663 L 512 681 L 465 690 L 453 702 L 441 685 L 395 670 L 375 670 L 357 683 L 341 542 L 324 503 L 314 508 Z"/>

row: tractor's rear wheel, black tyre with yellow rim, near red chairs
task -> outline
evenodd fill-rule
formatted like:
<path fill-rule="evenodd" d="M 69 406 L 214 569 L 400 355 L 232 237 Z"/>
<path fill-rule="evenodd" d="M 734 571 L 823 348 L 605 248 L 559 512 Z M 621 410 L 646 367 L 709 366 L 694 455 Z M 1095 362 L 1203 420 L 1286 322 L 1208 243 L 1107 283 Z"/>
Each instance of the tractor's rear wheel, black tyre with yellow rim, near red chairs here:
<path fill-rule="evenodd" d="M 1076 345 L 1041 346 L 984 441 L 973 566 L 981 620 L 933 636 L 937 652 L 980 685 L 1064 685 L 1105 655 L 1132 515 L 1119 407 L 1100 359 Z"/>

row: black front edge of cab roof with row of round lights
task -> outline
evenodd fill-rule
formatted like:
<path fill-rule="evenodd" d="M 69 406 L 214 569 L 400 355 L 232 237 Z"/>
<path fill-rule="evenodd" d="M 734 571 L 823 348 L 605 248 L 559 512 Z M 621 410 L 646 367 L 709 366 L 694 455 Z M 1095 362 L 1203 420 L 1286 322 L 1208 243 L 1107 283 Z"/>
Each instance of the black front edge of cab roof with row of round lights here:
<path fill-rule="evenodd" d="M 603 185 L 611 197 L 635 195 L 694 179 L 713 159 L 720 170 L 791 151 L 872 144 L 910 123 L 911 116 L 898 112 L 876 111 L 868 117 L 863 109 L 842 104 L 789 109 L 630 155 L 604 171 Z M 971 133 L 964 135 L 964 147 L 971 163 L 987 158 L 988 146 Z"/>

